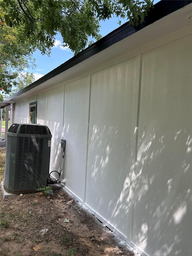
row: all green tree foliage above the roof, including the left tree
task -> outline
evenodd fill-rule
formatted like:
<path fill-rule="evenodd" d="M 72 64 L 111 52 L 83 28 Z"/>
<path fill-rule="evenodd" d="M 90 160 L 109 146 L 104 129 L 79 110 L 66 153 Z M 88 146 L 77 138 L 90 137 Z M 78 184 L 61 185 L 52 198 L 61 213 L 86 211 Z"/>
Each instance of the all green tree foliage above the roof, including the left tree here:
<path fill-rule="evenodd" d="M 32 53 L 50 54 L 55 35 L 74 54 L 101 38 L 99 21 L 112 16 L 142 23 L 150 0 L 0 0 L 0 90 L 10 93 Z M 120 21 L 119 21 L 120 24 Z"/>

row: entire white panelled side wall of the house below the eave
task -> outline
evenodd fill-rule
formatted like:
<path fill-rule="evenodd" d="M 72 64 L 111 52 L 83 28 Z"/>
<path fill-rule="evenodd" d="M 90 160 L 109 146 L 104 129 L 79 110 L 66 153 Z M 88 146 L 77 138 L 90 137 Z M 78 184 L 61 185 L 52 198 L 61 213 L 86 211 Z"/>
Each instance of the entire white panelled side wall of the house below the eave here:
<path fill-rule="evenodd" d="M 112 61 L 15 106 L 14 122 L 28 123 L 38 101 L 38 123 L 52 133 L 50 171 L 60 170 L 66 139 L 66 188 L 151 256 L 192 254 L 191 42 Z"/>

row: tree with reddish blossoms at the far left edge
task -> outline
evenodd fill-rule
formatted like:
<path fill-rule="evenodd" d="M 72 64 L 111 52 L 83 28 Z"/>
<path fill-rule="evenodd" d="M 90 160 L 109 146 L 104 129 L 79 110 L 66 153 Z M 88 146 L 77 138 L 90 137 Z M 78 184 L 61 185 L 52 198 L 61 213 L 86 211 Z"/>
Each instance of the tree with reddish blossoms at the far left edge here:
<path fill-rule="evenodd" d="M 0 5 L 0 15 L 3 14 Z M 19 40 L 19 33 L 19 28 L 9 27 L 5 21 L 0 21 L 0 91 L 2 94 L 10 94 L 12 87 L 20 85 L 19 74 L 22 74 L 26 68 L 35 67 L 35 59 L 32 59 L 35 47 L 32 48 L 29 43 L 23 44 Z M 0 100 L 3 99 L 2 94 Z"/>

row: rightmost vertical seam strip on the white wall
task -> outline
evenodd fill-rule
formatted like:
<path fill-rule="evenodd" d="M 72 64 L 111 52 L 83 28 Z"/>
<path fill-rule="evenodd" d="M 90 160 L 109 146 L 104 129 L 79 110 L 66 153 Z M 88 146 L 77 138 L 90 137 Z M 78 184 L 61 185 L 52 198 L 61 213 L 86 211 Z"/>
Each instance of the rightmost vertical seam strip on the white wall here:
<path fill-rule="evenodd" d="M 133 203 L 132 203 L 132 212 L 131 212 L 131 232 L 130 232 L 130 241 L 132 241 L 133 233 L 133 218 L 134 218 L 134 194 L 135 194 L 135 174 L 137 168 L 137 145 L 138 145 L 138 129 L 139 129 L 139 114 L 140 114 L 140 97 L 141 97 L 141 81 L 142 81 L 142 64 L 143 64 L 143 55 L 140 54 L 140 73 L 139 73 L 139 88 L 138 88 L 138 101 L 137 101 L 137 121 L 136 121 L 136 135 L 135 135 L 135 159 L 134 159 L 134 181 L 133 181 Z"/>

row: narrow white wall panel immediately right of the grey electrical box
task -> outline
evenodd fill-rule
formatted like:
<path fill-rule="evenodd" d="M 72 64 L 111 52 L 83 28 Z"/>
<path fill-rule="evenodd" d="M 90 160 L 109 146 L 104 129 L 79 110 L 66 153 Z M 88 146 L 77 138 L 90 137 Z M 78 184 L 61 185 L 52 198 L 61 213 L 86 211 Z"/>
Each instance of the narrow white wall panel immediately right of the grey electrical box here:
<path fill-rule="evenodd" d="M 85 193 L 89 89 L 89 76 L 65 85 L 65 185 L 81 201 Z"/>

